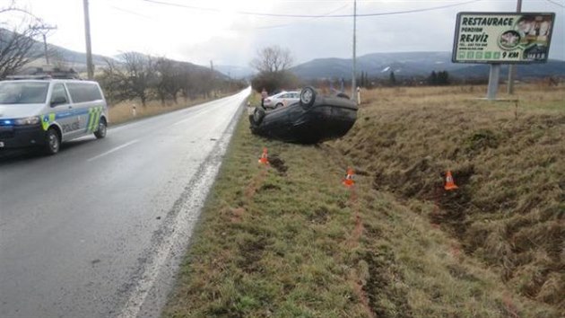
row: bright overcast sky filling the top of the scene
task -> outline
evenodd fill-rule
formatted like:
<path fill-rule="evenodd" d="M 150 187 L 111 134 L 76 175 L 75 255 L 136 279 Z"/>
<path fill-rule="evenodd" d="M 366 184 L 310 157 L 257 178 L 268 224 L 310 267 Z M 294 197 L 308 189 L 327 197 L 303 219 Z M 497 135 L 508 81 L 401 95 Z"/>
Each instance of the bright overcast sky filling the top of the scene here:
<path fill-rule="evenodd" d="M 48 42 L 84 52 L 83 0 L 16 0 L 57 25 Z M 8 3 L 0 0 L 0 7 Z M 267 14 L 341 15 L 352 0 L 90 0 L 92 51 L 112 56 L 139 51 L 201 65 L 248 66 L 257 49 L 290 49 L 296 64 L 320 57 L 352 57 L 352 18 Z M 159 4 L 161 3 L 161 4 Z M 165 4 L 163 4 L 165 3 Z M 181 4 L 191 8 L 167 4 Z M 420 13 L 359 17 L 357 55 L 374 52 L 450 51 L 461 11 L 512 12 L 517 0 L 358 1 L 357 13 L 393 13 L 461 4 Z M 523 12 L 553 12 L 550 58 L 565 59 L 565 0 L 523 0 Z M 248 14 L 244 14 L 248 13 Z M 15 22 L 17 13 L 0 21 Z"/>

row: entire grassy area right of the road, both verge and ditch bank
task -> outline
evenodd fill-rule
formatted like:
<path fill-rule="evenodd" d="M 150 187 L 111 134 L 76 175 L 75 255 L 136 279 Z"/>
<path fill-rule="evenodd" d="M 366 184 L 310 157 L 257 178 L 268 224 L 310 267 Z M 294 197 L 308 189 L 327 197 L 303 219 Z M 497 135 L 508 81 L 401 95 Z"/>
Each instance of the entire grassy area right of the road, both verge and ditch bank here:
<path fill-rule="evenodd" d="M 517 92 L 363 92 L 319 146 L 241 119 L 163 315 L 562 317 L 565 88 Z"/>

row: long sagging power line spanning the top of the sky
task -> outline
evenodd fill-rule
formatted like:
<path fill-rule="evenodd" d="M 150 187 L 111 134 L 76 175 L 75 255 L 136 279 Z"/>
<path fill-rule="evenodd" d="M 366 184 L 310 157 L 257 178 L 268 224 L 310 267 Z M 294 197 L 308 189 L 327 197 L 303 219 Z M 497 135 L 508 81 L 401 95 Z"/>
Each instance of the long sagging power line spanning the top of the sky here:
<path fill-rule="evenodd" d="M 187 4 L 174 4 L 174 3 L 164 2 L 164 1 L 160 1 L 160 0 L 141 0 L 141 1 L 151 3 L 151 4 L 161 4 L 161 5 L 174 6 L 174 7 L 178 7 L 178 8 L 191 9 L 191 10 L 209 11 L 209 12 L 224 12 L 224 10 L 222 10 L 222 9 L 206 8 L 206 7 L 202 7 L 202 6 L 187 5 Z M 464 4 L 473 4 L 473 3 L 479 2 L 479 1 L 482 1 L 482 0 L 472 0 L 472 1 L 456 3 L 456 4 L 446 4 L 446 5 L 433 6 L 433 7 L 429 7 L 429 8 L 413 9 L 413 10 L 406 10 L 406 11 L 393 11 L 393 12 L 387 12 L 387 13 L 364 13 L 364 14 L 357 14 L 357 17 L 395 15 L 395 14 L 406 14 L 406 13 L 421 13 L 421 12 L 426 12 L 426 11 L 433 11 L 433 10 L 450 8 L 450 7 L 464 5 Z M 312 15 L 312 14 L 256 13 L 256 12 L 249 12 L 249 11 L 236 11 L 235 13 L 242 14 L 242 15 L 254 15 L 254 16 L 263 16 L 263 17 L 279 17 L 279 18 L 351 18 L 353 16 L 353 14 Z"/>

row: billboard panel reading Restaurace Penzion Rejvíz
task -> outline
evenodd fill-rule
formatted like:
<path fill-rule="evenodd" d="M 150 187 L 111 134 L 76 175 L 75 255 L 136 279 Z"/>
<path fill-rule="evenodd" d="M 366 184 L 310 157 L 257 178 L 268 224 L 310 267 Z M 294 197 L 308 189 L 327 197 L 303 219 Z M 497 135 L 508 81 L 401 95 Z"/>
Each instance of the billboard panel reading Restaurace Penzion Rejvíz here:
<path fill-rule="evenodd" d="M 544 63 L 555 13 L 457 13 L 454 63 Z"/>

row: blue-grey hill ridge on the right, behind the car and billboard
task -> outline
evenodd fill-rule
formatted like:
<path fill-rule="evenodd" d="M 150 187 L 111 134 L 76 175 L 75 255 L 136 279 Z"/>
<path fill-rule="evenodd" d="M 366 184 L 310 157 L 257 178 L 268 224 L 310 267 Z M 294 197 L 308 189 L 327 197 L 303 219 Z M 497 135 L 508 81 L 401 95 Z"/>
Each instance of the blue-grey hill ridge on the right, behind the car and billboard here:
<path fill-rule="evenodd" d="M 503 75 L 508 67 L 502 68 Z M 565 75 L 565 61 L 549 60 L 546 64 L 520 65 L 517 78 Z M 304 79 L 351 78 L 351 58 L 317 58 L 294 66 L 292 73 Z M 386 77 L 391 71 L 397 76 L 427 76 L 431 71 L 448 71 L 456 77 L 488 77 L 488 65 L 451 62 L 451 52 L 372 53 L 357 57 L 357 71 L 370 77 Z"/>

